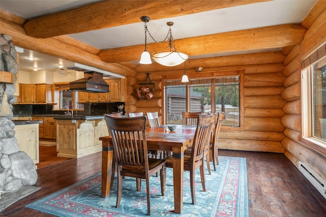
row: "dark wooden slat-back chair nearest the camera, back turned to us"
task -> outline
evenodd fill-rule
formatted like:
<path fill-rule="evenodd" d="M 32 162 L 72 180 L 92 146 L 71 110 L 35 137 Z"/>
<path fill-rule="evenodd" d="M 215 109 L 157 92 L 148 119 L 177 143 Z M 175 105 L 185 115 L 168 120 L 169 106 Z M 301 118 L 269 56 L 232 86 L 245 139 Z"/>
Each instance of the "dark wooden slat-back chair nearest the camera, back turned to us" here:
<path fill-rule="evenodd" d="M 137 185 L 146 179 L 147 214 L 150 215 L 150 176 L 160 171 L 161 194 L 165 196 L 166 160 L 148 158 L 146 117 L 116 118 L 104 116 L 111 130 L 114 155 L 117 164 L 117 208 L 120 206 L 123 176 L 135 177 Z M 140 191 L 140 188 L 137 189 Z"/>

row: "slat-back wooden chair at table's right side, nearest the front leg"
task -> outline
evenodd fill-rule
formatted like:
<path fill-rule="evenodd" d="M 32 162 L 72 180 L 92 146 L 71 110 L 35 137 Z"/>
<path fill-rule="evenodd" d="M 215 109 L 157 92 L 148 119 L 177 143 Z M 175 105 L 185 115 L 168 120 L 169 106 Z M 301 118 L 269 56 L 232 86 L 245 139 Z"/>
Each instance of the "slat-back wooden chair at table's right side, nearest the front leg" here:
<path fill-rule="evenodd" d="M 191 155 L 184 154 L 183 158 L 183 169 L 190 172 L 190 187 L 192 202 L 196 204 L 195 197 L 195 170 L 200 168 L 200 177 L 202 182 L 203 191 L 206 192 L 205 188 L 205 169 L 204 169 L 204 149 L 208 142 L 210 134 L 210 122 L 212 115 L 199 114 L 198 125 L 196 128 L 195 137 L 193 140 Z M 168 157 L 166 167 L 173 168 L 173 157 Z"/>

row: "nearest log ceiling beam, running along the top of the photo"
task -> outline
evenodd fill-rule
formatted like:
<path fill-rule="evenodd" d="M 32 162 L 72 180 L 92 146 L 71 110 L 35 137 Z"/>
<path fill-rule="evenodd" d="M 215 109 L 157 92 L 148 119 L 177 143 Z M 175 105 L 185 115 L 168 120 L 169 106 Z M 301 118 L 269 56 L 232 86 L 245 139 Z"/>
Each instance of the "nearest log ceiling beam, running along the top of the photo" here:
<path fill-rule="evenodd" d="M 142 16 L 156 20 L 267 1 L 103 1 L 31 19 L 23 28 L 26 35 L 44 39 L 142 22 Z"/>

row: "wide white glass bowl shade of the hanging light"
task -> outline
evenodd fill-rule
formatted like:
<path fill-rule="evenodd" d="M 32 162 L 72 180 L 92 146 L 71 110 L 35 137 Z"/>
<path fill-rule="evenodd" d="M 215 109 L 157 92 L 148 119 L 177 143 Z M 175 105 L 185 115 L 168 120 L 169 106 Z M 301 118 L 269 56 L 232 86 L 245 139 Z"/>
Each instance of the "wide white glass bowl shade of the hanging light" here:
<path fill-rule="evenodd" d="M 177 51 L 172 52 L 160 52 L 152 55 L 153 60 L 163 66 L 178 66 L 182 64 L 188 55 L 185 53 L 179 53 Z"/>

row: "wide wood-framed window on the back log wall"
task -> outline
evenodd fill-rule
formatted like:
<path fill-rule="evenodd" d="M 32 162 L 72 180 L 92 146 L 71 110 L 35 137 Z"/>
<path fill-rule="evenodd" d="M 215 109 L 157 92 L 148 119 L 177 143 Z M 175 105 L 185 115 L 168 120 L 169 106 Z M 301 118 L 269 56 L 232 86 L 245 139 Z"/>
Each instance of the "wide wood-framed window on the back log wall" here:
<path fill-rule="evenodd" d="M 240 76 L 165 81 L 166 123 L 182 123 L 182 111 L 225 112 L 223 126 L 240 127 Z M 243 114 L 242 114 L 243 115 Z"/>

